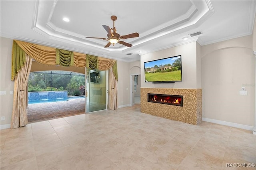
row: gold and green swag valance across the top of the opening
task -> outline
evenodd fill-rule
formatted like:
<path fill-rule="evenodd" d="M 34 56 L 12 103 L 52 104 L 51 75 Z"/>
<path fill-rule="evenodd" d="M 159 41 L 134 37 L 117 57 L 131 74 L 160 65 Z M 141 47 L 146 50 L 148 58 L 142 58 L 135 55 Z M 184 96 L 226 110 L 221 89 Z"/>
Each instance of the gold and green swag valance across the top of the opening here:
<path fill-rule="evenodd" d="M 90 69 L 108 70 L 113 68 L 113 73 L 118 80 L 117 64 L 114 59 L 107 59 L 103 57 L 97 57 L 94 55 L 88 55 L 63 49 L 56 49 L 53 47 L 47 47 L 44 45 L 38 45 L 34 43 L 22 42 L 18 40 L 13 41 L 12 46 L 12 80 L 17 75 L 20 68 L 26 63 L 25 53 L 30 57 L 45 65 L 62 65 L 75 66 L 79 68 L 87 67 Z M 14 61 L 15 60 L 15 61 Z M 17 62 L 18 61 L 18 62 Z"/>

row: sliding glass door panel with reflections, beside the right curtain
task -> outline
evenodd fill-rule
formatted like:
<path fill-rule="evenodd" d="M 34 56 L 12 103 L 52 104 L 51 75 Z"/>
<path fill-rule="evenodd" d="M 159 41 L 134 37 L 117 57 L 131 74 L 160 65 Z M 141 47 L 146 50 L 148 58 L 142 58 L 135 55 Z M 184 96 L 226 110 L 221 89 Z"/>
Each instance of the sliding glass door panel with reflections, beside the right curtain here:
<path fill-rule="evenodd" d="M 107 72 L 86 69 L 86 113 L 107 109 Z"/>

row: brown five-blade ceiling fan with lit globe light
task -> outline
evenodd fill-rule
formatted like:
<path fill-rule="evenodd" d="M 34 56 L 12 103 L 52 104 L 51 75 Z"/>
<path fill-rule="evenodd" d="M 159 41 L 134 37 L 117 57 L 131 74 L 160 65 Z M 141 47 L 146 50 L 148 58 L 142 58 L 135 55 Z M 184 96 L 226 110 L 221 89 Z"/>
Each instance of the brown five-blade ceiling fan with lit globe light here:
<path fill-rule="evenodd" d="M 114 46 L 116 43 L 120 43 L 120 44 L 125 45 L 127 47 L 132 47 L 132 44 L 126 43 L 126 42 L 123 42 L 123 41 L 120 41 L 120 40 L 124 40 L 124 39 L 127 39 L 127 38 L 134 38 L 134 37 L 138 37 L 140 35 L 137 32 L 135 32 L 135 33 L 128 34 L 128 35 L 125 35 L 125 36 L 120 36 L 120 34 L 116 33 L 116 27 L 115 27 L 115 20 L 117 20 L 117 17 L 113 15 L 110 18 L 113 21 L 113 28 L 109 28 L 109 26 L 102 25 L 103 28 L 108 33 L 107 34 L 108 38 L 98 38 L 98 39 L 109 41 L 107 43 L 107 45 L 105 45 L 105 47 L 109 47 L 110 44 L 113 44 L 113 46 Z M 113 32 L 111 32 L 111 30 Z M 86 38 L 96 38 L 96 37 L 86 37 Z"/>

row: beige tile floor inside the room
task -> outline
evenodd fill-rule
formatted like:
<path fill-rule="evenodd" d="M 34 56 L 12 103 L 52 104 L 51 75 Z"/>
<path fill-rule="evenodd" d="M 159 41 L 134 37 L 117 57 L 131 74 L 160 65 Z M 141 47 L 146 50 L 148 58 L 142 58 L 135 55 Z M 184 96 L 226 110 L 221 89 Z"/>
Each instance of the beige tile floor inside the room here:
<path fill-rule="evenodd" d="M 256 163 L 251 131 L 140 113 L 140 105 L 1 130 L 1 170 L 210 170 Z"/>

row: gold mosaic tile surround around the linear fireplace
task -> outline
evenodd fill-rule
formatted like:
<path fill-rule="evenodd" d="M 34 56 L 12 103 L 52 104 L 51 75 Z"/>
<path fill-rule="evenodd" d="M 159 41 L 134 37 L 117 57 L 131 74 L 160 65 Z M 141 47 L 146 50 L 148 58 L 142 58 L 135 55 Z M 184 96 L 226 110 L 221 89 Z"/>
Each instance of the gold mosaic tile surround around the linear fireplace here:
<path fill-rule="evenodd" d="M 148 93 L 183 96 L 183 107 L 148 102 Z M 141 88 L 140 109 L 142 113 L 199 125 L 202 121 L 202 89 Z"/>

